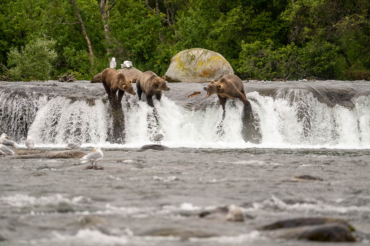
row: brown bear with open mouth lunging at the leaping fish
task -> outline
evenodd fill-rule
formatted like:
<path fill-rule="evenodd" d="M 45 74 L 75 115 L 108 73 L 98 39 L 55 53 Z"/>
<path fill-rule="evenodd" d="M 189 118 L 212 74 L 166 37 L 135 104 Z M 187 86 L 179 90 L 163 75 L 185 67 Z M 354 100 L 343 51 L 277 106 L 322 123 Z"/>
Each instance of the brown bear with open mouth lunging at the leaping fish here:
<path fill-rule="evenodd" d="M 251 108 L 249 101 L 245 98 L 243 82 L 236 75 L 225 75 L 218 82 L 212 80 L 211 83 L 203 89 L 207 91 L 206 97 L 217 94 L 224 111 L 226 98 L 239 98 L 246 107 Z"/>

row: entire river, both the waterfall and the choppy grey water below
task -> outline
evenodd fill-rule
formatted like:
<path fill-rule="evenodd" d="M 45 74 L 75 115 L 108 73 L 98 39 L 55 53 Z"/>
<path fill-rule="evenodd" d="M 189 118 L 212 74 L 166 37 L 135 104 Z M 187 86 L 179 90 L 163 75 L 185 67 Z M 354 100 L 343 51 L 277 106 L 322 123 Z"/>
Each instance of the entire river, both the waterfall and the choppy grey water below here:
<path fill-rule="evenodd" d="M 312 245 L 257 230 L 309 216 L 346 219 L 369 243 L 368 83 L 245 83 L 255 120 L 230 100 L 222 123 L 216 96 L 187 98 L 206 84 L 169 84 L 153 112 L 131 95 L 112 110 L 101 84 L 1 82 L 1 132 L 23 147 L 30 135 L 36 150 L 99 145 L 105 169 L 0 157 L 0 244 Z M 140 150 L 159 129 L 172 150 Z M 293 179 L 302 174 L 322 181 Z M 245 222 L 197 216 L 230 204 Z M 188 236 L 155 236 L 164 229 Z"/>

